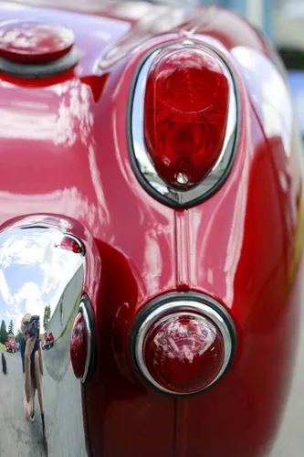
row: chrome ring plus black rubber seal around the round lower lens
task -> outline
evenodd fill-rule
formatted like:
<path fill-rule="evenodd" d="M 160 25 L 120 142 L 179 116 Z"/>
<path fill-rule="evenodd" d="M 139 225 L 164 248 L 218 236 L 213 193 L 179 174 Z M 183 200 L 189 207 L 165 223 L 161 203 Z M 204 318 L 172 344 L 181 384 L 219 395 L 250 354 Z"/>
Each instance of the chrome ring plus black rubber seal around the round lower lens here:
<path fill-rule="evenodd" d="M 131 360 L 140 377 L 152 387 L 164 393 L 177 396 L 194 395 L 173 393 L 171 390 L 163 388 L 155 382 L 145 362 L 144 340 L 149 329 L 152 328 L 153 324 L 162 322 L 165 316 L 173 313 L 206 317 L 215 324 L 222 335 L 225 350 L 224 362 L 218 375 L 206 388 L 214 386 L 223 377 L 234 359 L 236 354 L 235 325 L 221 304 L 208 296 L 194 292 L 170 293 L 160 297 L 160 299 L 148 304 L 135 319 L 130 338 Z"/>

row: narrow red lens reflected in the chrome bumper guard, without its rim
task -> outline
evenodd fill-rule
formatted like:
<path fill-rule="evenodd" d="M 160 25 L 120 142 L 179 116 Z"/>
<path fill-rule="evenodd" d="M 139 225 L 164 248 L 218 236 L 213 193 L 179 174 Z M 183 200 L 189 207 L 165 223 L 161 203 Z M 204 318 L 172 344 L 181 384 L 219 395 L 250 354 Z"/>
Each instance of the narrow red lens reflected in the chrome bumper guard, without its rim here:
<path fill-rule="evenodd" d="M 70 343 L 70 359 L 76 377 L 83 377 L 85 374 L 88 356 L 88 329 L 83 313 L 77 314 Z"/>

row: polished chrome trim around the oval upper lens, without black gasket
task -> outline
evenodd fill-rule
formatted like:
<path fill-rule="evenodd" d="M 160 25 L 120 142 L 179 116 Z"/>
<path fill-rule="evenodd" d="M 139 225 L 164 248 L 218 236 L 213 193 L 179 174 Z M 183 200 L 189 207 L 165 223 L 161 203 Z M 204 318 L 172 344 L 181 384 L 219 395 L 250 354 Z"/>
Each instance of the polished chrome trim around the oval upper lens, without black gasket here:
<path fill-rule="evenodd" d="M 204 177 L 204 179 L 196 186 L 190 190 L 178 190 L 168 185 L 162 180 L 157 174 L 154 165 L 152 164 L 152 159 L 150 154 L 147 152 L 144 140 L 144 93 L 146 88 L 146 83 L 148 79 L 149 70 L 152 67 L 152 62 L 154 58 L 161 52 L 162 48 L 170 46 L 175 43 L 169 43 L 164 45 L 162 48 L 157 49 L 150 55 L 149 58 L 145 60 L 142 65 L 142 69 L 138 74 L 138 78 L 135 83 L 135 89 L 133 93 L 133 100 L 131 101 L 131 142 L 132 148 L 134 151 L 135 162 L 139 167 L 139 170 L 142 173 L 142 176 L 145 178 L 145 181 L 152 186 L 161 196 L 169 199 L 173 204 L 179 206 L 187 205 L 193 200 L 204 197 L 208 194 L 213 187 L 217 185 L 220 179 L 225 175 L 225 172 L 230 164 L 236 143 L 236 122 L 237 122 L 237 101 L 236 101 L 236 85 L 234 83 L 232 74 L 228 69 L 225 61 L 215 49 L 210 48 L 204 43 L 189 42 L 189 40 L 183 41 L 185 45 L 189 44 L 198 44 L 202 48 L 207 48 L 208 50 L 215 53 L 215 55 L 221 60 L 222 67 L 225 71 L 227 80 L 229 81 L 229 111 L 228 111 L 228 120 L 225 133 L 225 141 L 223 144 L 222 152 L 210 173 Z"/>

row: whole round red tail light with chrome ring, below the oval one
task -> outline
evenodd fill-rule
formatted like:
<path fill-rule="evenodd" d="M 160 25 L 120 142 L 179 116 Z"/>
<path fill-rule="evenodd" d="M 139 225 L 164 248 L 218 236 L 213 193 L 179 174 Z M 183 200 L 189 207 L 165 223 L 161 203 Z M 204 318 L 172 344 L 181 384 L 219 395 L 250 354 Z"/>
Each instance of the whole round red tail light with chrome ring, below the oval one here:
<path fill-rule="evenodd" d="M 236 331 L 212 299 L 173 300 L 144 309 L 131 334 L 131 358 L 145 382 L 162 392 L 191 395 L 224 376 Z"/>

